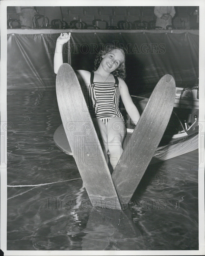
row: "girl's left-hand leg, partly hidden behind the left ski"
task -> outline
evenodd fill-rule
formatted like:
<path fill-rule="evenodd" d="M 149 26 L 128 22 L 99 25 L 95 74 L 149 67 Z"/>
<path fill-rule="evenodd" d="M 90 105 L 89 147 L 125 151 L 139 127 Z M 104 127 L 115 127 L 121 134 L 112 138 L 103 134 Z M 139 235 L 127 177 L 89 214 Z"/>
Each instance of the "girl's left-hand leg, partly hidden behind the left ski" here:
<path fill-rule="evenodd" d="M 107 144 L 107 129 L 104 122 L 102 122 L 100 119 L 92 118 L 93 124 L 95 127 L 95 130 L 97 132 L 102 151 L 105 155 L 106 162 L 108 163 L 108 144 Z"/>

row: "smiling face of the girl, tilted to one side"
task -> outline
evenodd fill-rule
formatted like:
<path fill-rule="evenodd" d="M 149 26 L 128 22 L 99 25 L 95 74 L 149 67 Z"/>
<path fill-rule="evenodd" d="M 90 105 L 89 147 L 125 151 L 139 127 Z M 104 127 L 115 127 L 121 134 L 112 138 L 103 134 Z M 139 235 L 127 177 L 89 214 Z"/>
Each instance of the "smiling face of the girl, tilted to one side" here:
<path fill-rule="evenodd" d="M 111 73 L 124 62 L 124 55 L 119 49 L 113 49 L 102 56 L 101 65 L 106 72 Z"/>

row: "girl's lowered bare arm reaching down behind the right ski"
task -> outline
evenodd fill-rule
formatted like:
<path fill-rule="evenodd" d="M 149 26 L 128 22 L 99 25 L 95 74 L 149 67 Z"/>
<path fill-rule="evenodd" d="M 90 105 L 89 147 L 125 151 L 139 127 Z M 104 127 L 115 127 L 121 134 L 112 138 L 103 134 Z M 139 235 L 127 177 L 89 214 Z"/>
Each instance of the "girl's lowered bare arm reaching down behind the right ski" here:
<path fill-rule="evenodd" d="M 139 111 L 137 110 L 135 104 L 132 101 L 132 98 L 130 96 L 126 83 L 121 78 L 119 78 L 119 86 L 120 86 L 120 96 L 122 98 L 122 102 L 125 106 L 127 114 L 130 116 L 133 123 L 136 125 L 140 118 Z"/>

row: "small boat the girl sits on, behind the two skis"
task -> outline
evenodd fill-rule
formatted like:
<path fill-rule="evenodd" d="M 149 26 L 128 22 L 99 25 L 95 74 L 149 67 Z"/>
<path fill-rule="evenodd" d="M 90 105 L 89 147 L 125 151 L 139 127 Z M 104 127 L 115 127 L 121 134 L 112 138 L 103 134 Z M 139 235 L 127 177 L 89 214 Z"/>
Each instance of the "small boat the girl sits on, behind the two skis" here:
<path fill-rule="evenodd" d="M 192 97 L 190 97 L 190 93 L 184 94 L 182 97 L 182 92 L 184 92 L 183 88 L 176 87 L 175 103 L 170 121 L 150 164 L 165 161 L 198 149 L 199 100 L 197 99 L 196 90 L 191 93 Z M 140 113 L 143 112 L 150 94 L 131 95 Z M 125 109 L 121 109 L 127 130 L 123 144 L 125 145 L 131 138 L 134 124 Z M 54 142 L 63 152 L 73 155 L 62 124 L 54 133 Z"/>

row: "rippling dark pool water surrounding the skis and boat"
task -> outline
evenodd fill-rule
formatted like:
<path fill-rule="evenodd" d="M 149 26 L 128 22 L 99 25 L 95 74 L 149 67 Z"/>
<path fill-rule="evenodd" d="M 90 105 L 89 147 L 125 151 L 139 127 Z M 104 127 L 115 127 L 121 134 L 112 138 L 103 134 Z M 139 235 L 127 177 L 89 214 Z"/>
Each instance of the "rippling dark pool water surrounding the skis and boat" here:
<path fill-rule="evenodd" d="M 129 210 L 96 210 L 53 142 L 55 90 L 8 90 L 7 120 L 8 185 L 40 184 L 8 187 L 7 250 L 198 250 L 197 150 L 150 165 Z"/>

